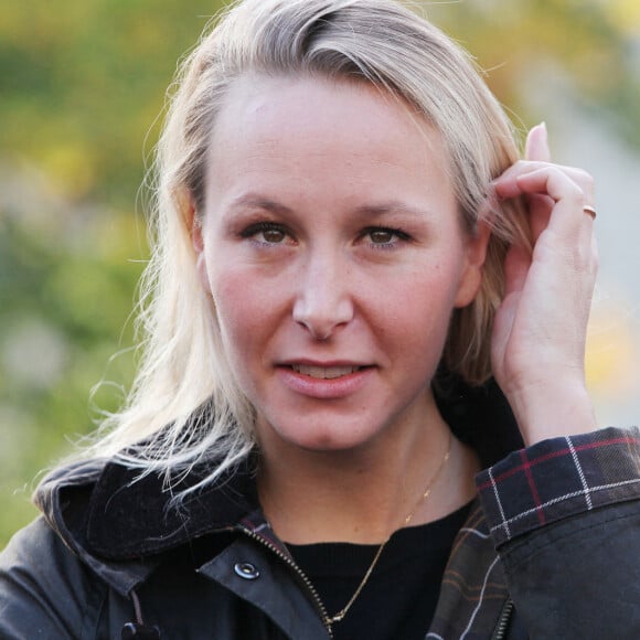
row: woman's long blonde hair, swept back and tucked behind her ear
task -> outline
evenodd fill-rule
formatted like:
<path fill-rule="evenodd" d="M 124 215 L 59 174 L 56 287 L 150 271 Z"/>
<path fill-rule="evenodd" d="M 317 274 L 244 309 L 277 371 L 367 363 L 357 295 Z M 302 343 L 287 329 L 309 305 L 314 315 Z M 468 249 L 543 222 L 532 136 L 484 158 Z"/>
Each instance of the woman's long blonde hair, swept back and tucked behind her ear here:
<path fill-rule="evenodd" d="M 190 228 L 191 203 L 196 212 L 203 206 L 212 126 L 230 86 L 247 73 L 366 82 L 410 104 L 442 137 L 468 233 L 476 233 L 490 181 L 518 159 L 511 124 L 468 54 L 393 0 L 244 0 L 221 15 L 174 84 L 154 167 L 156 241 L 139 318 L 142 358 L 127 405 L 105 420 L 106 435 L 93 448 L 173 479 L 214 460 L 200 484 L 245 459 L 255 445 L 254 410 L 225 360 Z M 491 218 L 481 290 L 455 312 L 442 356 L 473 384 L 491 374 L 505 249 L 526 242 L 518 204 L 495 209 Z"/>

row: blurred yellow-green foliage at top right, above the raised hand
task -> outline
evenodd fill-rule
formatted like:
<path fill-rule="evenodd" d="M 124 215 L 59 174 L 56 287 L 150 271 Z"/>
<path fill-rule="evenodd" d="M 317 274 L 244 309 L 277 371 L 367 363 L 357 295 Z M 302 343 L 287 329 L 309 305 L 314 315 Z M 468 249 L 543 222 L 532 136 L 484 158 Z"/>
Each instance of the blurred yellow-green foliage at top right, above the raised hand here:
<path fill-rule="evenodd" d="M 536 90 L 535 83 L 544 82 L 545 74 L 562 74 L 580 107 L 609 118 L 621 137 L 640 147 L 637 0 L 423 4 L 430 19 L 487 70 L 493 92 L 527 122 L 527 128 L 545 114 L 529 114 L 524 96 Z M 534 86 L 529 86 L 531 83 Z"/>

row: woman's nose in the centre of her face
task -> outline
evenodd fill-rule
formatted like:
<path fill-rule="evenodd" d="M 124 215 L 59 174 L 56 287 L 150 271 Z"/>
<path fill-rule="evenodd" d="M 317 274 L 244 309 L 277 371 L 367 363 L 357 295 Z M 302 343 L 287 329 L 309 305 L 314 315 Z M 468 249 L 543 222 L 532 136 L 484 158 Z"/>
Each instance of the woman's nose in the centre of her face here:
<path fill-rule="evenodd" d="M 294 320 L 316 340 L 327 340 L 353 318 L 349 269 L 332 252 L 309 256 L 298 274 Z"/>

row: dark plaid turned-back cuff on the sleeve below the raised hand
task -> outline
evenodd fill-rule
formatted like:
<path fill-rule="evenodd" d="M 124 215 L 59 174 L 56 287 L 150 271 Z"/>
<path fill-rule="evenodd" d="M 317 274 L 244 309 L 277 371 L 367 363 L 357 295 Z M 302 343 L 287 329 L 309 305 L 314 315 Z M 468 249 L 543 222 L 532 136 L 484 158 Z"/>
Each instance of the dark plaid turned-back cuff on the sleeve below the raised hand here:
<path fill-rule="evenodd" d="M 481 471 L 476 483 L 498 547 L 545 524 L 640 499 L 640 429 L 543 440 Z"/>

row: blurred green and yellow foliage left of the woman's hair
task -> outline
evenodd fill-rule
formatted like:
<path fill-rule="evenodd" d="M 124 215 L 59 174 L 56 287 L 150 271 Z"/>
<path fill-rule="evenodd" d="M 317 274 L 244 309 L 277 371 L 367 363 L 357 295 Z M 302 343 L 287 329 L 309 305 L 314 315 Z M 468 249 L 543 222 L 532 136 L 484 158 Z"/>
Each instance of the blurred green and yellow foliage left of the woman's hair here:
<path fill-rule="evenodd" d="M 115 409 L 131 381 L 128 318 L 147 255 L 136 211 L 143 159 L 177 61 L 218 8 L 2 7 L 0 548 L 35 514 L 38 472 L 92 430 L 97 408 Z M 89 401 L 103 378 L 114 385 Z"/>

